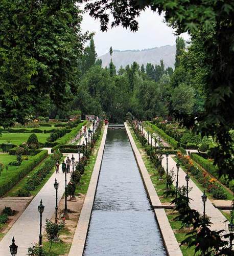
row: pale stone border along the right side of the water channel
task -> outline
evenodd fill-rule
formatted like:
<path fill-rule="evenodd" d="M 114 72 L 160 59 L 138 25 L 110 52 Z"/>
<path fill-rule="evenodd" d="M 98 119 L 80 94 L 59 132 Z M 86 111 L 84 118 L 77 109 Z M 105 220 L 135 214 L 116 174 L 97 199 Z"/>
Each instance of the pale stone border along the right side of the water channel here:
<path fill-rule="evenodd" d="M 134 153 L 138 168 L 139 168 L 139 172 L 141 173 L 142 179 L 143 179 L 143 183 L 145 185 L 147 194 L 149 196 L 150 199 L 150 203 L 151 205 L 161 205 L 161 202 L 158 198 L 158 195 L 155 191 L 155 188 L 153 186 L 153 183 L 150 179 L 149 173 L 147 171 L 147 168 L 145 166 L 145 163 L 142 159 L 141 154 L 139 153 L 139 150 L 135 144 L 135 141 L 130 133 L 130 130 L 128 128 L 127 123 L 124 123 L 125 125 L 125 129 L 132 147 L 132 151 Z M 167 218 L 166 212 L 164 209 L 154 209 L 155 212 L 155 216 L 156 216 L 156 220 L 161 232 L 161 236 L 166 248 L 166 251 L 168 253 L 168 255 L 170 256 L 182 256 L 182 252 L 180 250 L 179 244 L 175 238 L 175 234 L 171 228 L 171 225 L 169 223 L 169 220 Z"/>

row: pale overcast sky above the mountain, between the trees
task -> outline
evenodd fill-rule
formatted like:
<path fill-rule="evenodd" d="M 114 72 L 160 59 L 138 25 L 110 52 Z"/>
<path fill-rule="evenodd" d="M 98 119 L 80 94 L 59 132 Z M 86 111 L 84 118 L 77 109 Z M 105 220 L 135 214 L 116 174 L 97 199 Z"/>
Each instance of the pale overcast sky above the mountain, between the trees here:
<path fill-rule="evenodd" d="M 163 23 L 163 16 L 147 9 L 138 17 L 139 28 L 137 32 L 131 32 L 123 27 L 110 28 L 107 32 L 100 31 L 99 20 L 84 13 L 82 31 L 95 32 L 93 37 L 98 56 L 109 52 L 110 46 L 114 50 L 142 50 L 166 45 L 175 45 L 176 36 L 173 29 Z M 188 34 L 182 34 L 185 40 Z"/>

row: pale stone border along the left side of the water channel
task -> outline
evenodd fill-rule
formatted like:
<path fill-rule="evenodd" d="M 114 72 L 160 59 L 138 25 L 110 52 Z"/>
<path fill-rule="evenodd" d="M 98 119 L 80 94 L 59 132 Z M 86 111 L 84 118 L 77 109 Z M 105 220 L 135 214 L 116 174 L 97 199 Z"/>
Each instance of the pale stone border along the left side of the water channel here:
<path fill-rule="evenodd" d="M 84 204 L 81 210 L 80 218 L 76 227 L 73 242 L 68 256 L 82 256 L 86 237 L 88 233 L 89 222 L 91 218 L 92 206 L 95 200 L 96 188 L 98 185 L 99 173 L 102 165 L 102 157 L 105 148 L 108 126 L 105 126 L 102 141 L 99 147 L 98 156 L 93 167 L 92 176 L 85 196 Z"/>

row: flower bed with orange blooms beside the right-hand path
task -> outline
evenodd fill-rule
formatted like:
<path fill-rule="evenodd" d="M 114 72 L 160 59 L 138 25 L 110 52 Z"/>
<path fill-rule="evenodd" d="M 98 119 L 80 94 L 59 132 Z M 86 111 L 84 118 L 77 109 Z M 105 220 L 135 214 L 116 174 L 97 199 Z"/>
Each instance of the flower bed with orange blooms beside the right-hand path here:
<path fill-rule="evenodd" d="M 227 199 L 226 189 L 215 178 L 203 172 L 199 167 L 195 167 L 190 156 L 184 156 L 180 152 L 177 153 L 177 158 L 182 165 L 191 173 L 199 183 L 212 195 L 214 199 Z"/>

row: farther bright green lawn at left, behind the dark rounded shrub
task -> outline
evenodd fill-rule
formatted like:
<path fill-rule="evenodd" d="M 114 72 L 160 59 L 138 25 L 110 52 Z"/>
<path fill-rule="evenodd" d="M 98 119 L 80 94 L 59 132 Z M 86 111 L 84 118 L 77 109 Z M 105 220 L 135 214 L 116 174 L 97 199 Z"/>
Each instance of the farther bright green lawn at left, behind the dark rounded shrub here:
<path fill-rule="evenodd" d="M 0 137 L 0 143 L 10 143 L 19 145 L 23 142 L 26 142 L 29 138 L 31 133 L 3 133 L 2 137 Z M 46 142 L 46 138 L 50 136 L 49 133 L 37 133 L 37 138 L 39 142 L 44 143 Z"/>

